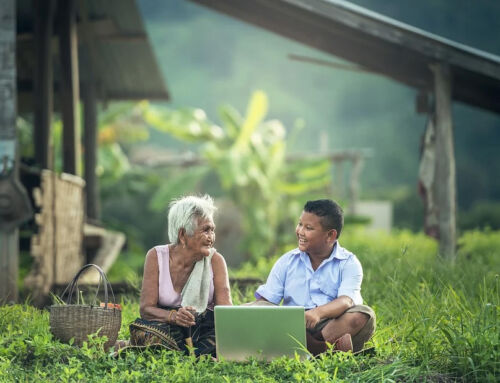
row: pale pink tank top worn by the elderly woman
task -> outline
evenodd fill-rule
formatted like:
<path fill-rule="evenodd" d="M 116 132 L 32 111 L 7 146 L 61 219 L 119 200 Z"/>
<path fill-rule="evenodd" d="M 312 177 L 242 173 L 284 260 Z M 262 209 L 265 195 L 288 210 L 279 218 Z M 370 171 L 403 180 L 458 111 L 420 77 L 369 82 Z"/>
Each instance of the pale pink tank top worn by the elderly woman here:
<path fill-rule="evenodd" d="M 168 245 L 155 246 L 158 257 L 158 304 L 160 306 L 175 307 L 180 306 L 181 294 L 174 290 L 172 278 L 170 277 L 170 255 Z M 214 309 L 214 278 L 213 271 L 210 268 L 212 278 L 210 281 L 210 290 L 208 292 L 207 309 Z"/>

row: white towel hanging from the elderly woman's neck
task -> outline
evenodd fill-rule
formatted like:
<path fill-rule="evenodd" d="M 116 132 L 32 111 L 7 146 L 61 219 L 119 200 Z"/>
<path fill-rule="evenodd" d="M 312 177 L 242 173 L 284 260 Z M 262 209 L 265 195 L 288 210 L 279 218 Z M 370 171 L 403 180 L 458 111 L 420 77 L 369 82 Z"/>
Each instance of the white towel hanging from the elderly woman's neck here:
<path fill-rule="evenodd" d="M 210 292 L 210 262 L 216 250 L 212 247 L 208 257 L 196 262 L 193 271 L 182 289 L 182 307 L 192 306 L 197 313 L 202 313 L 207 309 L 208 293 Z"/>

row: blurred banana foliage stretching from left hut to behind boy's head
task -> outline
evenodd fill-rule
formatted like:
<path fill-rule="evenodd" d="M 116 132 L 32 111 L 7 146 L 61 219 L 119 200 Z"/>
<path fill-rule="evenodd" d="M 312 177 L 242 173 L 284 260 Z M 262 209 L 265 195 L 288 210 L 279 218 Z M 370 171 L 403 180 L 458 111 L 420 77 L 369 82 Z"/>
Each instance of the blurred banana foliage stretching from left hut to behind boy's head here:
<path fill-rule="evenodd" d="M 139 195 L 147 199 L 149 193 L 147 206 L 154 215 L 164 211 L 174 197 L 213 189 L 216 197 L 230 198 L 240 209 L 244 256 L 256 260 L 271 254 L 283 245 L 282 238 L 287 236 L 282 228 L 288 232 L 303 200 L 314 193 L 328 193 L 331 169 L 327 160 L 290 161 L 286 129 L 277 120 L 265 120 L 267 110 L 267 96 L 258 91 L 245 115 L 231 106 L 220 107 L 221 126 L 200 109 L 171 110 L 145 101 L 108 114 L 99 131 L 105 209 L 116 205 L 120 195 L 125 198 L 132 192 L 136 199 Z M 133 129 L 139 133 L 132 136 Z M 196 166 L 182 167 L 177 154 L 177 165 L 172 161 L 173 165 L 154 169 L 132 167 L 126 156 L 127 140 L 145 139 L 150 131 L 168 134 L 186 145 L 196 144 L 200 153 L 194 156 Z M 105 218 L 119 221 L 118 217 L 126 221 L 117 209 Z"/>

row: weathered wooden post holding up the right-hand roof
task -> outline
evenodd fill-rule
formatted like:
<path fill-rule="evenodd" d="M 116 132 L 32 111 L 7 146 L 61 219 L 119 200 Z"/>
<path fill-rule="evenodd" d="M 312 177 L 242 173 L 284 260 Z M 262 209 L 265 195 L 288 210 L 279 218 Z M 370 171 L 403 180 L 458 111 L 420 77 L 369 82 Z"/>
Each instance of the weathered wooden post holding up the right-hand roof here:
<path fill-rule="evenodd" d="M 451 115 L 452 76 L 445 64 L 431 66 L 434 74 L 435 152 L 434 195 L 438 211 L 439 252 L 455 259 L 456 245 L 456 176 Z"/>

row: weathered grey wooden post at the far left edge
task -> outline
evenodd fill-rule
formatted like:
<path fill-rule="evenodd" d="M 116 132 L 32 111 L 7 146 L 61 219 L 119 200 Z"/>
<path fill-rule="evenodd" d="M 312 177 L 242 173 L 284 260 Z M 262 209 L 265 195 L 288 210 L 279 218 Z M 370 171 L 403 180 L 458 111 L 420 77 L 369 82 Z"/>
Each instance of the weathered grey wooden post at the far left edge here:
<path fill-rule="evenodd" d="M 0 171 L 14 171 L 17 177 L 15 4 L 3 0 L 0 6 Z M 0 230 L 0 304 L 18 299 L 18 263 L 17 228 Z"/>

